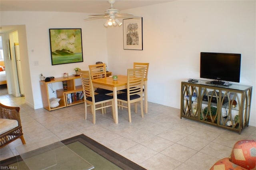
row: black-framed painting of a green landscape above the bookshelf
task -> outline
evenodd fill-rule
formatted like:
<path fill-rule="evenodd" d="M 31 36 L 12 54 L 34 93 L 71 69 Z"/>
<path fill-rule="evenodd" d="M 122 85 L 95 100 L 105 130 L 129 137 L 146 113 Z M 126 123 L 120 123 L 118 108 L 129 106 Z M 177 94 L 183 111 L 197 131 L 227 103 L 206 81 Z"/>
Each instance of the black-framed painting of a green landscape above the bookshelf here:
<path fill-rule="evenodd" d="M 82 29 L 50 28 L 52 65 L 83 62 Z"/>

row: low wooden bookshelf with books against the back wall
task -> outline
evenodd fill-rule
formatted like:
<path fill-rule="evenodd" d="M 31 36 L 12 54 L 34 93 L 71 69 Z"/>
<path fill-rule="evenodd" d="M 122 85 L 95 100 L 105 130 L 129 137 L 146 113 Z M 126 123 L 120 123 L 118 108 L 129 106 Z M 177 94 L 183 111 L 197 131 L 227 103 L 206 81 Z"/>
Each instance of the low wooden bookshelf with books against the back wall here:
<path fill-rule="evenodd" d="M 83 87 L 82 85 L 77 85 L 79 83 L 76 83 L 75 81 L 76 79 L 80 79 L 80 76 L 71 75 L 68 77 L 57 77 L 57 78 L 51 79 L 51 81 L 48 81 L 48 82 L 40 81 L 40 89 L 41 89 L 42 102 L 43 102 L 44 108 L 47 109 L 48 111 L 53 111 L 63 107 L 84 103 L 84 98 L 81 97 L 83 94 Z M 60 105 L 58 107 L 51 108 L 50 101 L 49 101 L 50 89 L 48 89 L 48 85 L 50 85 L 51 83 L 63 83 L 64 81 L 68 86 L 67 89 L 64 90 L 63 88 L 61 88 L 56 90 L 56 97 L 60 99 L 59 101 Z M 70 97 L 72 99 L 70 99 Z"/>

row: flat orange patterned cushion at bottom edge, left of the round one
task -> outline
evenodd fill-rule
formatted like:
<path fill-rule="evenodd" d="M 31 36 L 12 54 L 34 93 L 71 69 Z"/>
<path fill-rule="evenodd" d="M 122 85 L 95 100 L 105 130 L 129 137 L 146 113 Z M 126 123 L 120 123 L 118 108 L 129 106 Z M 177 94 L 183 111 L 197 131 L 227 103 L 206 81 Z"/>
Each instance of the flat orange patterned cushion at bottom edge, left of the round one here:
<path fill-rule="evenodd" d="M 246 170 L 241 166 L 238 166 L 232 162 L 230 162 L 229 158 L 223 158 L 218 160 L 210 170 Z"/>

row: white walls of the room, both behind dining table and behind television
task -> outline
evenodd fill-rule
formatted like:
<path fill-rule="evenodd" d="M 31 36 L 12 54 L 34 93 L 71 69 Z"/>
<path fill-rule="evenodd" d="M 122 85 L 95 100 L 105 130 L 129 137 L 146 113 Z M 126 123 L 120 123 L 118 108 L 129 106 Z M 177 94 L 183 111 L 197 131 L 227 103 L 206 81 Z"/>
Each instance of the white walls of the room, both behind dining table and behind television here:
<path fill-rule="evenodd" d="M 1 12 L 1 24 L 26 25 L 34 108 L 42 107 L 40 73 L 60 77 L 96 61 L 114 74 L 126 74 L 135 61 L 149 62 L 148 101 L 180 108 L 180 81 L 199 78 L 201 51 L 241 53 L 241 84 L 255 87 L 255 9 L 255 1 L 174 1 L 122 11 L 143 17 L 142 51 L 123 49 L 122 27 L 83 22 L 82 13 Z M 84 62 L 52 66 L 49 28 L 82 28 Z M 250 125 L 256 126 L 254 103 L 253 90 Z"/>

